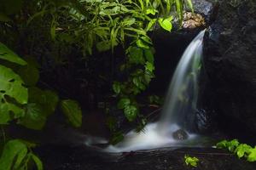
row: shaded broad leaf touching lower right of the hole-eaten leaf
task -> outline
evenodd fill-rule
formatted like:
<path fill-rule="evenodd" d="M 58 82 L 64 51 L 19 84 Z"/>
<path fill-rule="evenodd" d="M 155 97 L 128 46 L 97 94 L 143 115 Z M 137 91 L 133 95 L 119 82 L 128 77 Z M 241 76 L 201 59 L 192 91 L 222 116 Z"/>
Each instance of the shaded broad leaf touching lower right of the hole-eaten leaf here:
<path fill-rule="evenodd" d="M 20 118 L 18 124 L 34 130 L 41 130 L 46 122 L 47 115 L 38 104 L 26 105 L 26 114 Z"/>

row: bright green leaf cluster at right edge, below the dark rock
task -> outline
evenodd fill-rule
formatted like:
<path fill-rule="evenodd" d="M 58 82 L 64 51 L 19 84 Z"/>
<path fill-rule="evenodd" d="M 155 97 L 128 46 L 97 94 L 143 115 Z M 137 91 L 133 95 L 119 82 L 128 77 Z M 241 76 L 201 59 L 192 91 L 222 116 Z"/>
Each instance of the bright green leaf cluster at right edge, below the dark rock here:
<path fill-rule="evenodd" d="M 244 157 L 247 161 L 256 161 L 256 146 L 253 148 L 248 144 L 240 144 L 237 139 L 230 141 L 223 140 L 216 144 L 218 149 L 228 149 L 239 158 Z"/>

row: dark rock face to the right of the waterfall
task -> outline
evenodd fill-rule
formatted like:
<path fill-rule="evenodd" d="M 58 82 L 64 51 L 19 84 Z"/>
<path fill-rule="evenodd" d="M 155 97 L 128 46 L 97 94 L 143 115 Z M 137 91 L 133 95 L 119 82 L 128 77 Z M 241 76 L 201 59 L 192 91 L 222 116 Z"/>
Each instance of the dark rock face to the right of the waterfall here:
<path fill-rule="evenodd" d="M 256 133 L 255 0 L 219 1 L 205 37 L 204 63 L 209 81 L 204 104 L 226 117 L 224 123 Z"/>

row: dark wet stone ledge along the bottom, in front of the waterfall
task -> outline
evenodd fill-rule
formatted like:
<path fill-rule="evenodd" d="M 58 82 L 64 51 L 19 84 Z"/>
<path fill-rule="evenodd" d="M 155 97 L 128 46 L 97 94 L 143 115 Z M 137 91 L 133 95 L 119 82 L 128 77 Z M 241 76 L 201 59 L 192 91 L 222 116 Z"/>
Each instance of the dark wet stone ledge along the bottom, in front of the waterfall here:
<path fill-rule="evenodd" d="M 42 146 L 38 155 L 46 170 L 255 170 L 256 164 L 217 149 L 161 149 L 109 155 L 82 146 Z M 188 167 L 185 155 L 196 156 L 198 167 Z"/>

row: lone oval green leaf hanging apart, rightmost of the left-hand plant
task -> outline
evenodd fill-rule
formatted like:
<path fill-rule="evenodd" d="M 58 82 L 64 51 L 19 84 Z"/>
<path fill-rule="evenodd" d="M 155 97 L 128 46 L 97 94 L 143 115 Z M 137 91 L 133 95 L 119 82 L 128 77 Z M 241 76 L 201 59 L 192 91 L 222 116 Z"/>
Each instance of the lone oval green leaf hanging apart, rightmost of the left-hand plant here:
<path fill-rule="evenodd" d="M 81 127 L 82 125 L 82 110 L 79 103 L 72 99 L 61 101 L 61 111 L 67 117 L 73 127 Z"/>

